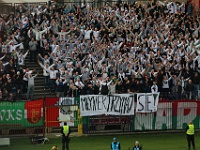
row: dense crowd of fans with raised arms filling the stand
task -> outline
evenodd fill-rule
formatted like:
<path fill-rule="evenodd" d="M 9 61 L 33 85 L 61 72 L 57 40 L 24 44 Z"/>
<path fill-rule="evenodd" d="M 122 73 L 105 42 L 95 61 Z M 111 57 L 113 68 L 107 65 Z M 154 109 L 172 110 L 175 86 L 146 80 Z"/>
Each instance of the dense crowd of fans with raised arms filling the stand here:
<path fill-rule="evenodd" d="M 43 68 L 44 90 L 59 97 L 161 92 L 163 99 L 200 99 L 200 14 L 190 3 L 72 6 L 20 5 L 1 14 L 3 99 L 30 92 L 29 53 Z"/>

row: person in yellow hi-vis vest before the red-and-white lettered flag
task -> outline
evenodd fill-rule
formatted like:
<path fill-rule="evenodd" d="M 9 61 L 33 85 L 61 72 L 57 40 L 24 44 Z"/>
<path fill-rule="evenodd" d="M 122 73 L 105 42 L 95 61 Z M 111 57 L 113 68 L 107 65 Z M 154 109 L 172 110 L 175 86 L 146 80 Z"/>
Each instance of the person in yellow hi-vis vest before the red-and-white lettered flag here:
<path fill-rule="evenodd" d="M 191 143 L 192 143 L 193 150 L 195 150 L 194 132 L 195 132 L 194 124 L 192 123 L 192 121 L 190 121 L 186 128 L 188 150 L 190 150 Z"/>

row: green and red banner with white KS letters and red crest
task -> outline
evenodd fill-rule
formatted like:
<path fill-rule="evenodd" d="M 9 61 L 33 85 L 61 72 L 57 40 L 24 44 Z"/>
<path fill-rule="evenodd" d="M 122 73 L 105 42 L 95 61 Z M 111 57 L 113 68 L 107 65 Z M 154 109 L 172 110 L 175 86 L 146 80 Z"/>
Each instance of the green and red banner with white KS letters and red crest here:
<path fill-rule="evenodd" d="M 38 127 L 43 125 L 43 100 L 0 102 L 0 127 Z"/>

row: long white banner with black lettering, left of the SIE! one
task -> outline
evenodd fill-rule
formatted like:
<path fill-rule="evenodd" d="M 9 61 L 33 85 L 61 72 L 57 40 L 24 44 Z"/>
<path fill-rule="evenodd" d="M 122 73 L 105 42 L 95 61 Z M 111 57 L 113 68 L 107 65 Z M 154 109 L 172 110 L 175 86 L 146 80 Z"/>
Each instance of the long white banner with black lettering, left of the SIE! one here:
<path fill-rule="evenodd" d="M 81 95 L 80 115 L 134 115 L 134 95 Z"/>

